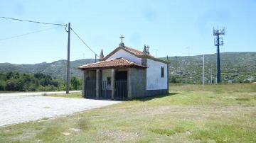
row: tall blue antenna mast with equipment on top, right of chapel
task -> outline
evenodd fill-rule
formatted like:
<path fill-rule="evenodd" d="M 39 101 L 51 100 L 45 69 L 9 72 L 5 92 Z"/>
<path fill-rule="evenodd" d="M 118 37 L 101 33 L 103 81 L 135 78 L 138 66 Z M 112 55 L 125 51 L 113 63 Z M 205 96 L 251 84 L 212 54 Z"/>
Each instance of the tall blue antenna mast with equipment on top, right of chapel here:
<path fill-rule="evenodd" d="M 215 36 L 214 39 L 214 45 L 217 47 L 217 65 L 216 65 L 216 76 L 217 76 L 217 84 L 219 84 L 220 81 L 220 46 L 223 45 L 223 38 L 221 35 L 225 35 L 225 27 L 222 29 L 215 29 L 213 28 L 213 35 Z"/>

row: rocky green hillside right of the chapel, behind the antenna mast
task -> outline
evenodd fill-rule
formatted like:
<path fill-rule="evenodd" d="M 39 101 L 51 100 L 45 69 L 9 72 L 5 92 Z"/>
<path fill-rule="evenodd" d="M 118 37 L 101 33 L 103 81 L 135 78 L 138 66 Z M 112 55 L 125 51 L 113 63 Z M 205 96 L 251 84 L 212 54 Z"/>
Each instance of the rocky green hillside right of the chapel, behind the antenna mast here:
<path fill-rule="evenodd" d="M 161 58 L 166 59 L 166 57 Z M 169 57 L 170 79 L 181 83 L 200 84 L 202 81 L 202 55 Z M 221 79 L 223 82 L 256 81 L 256 52 L 220 53 Z M 213 83 L 216 76 L 216 54 L 205 55 L 205 81 L 210 82 L 210 69 Z"/>

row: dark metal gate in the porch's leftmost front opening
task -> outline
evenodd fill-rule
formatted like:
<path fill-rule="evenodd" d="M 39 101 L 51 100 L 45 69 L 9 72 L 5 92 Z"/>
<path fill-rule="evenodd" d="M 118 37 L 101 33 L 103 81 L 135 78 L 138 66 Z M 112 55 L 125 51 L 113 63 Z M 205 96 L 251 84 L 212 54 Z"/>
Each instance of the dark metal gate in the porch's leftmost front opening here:
<path fill-rule="evenodd" d="M 85 81 L 85 98 L 96 98 L 96 81 Z"/>

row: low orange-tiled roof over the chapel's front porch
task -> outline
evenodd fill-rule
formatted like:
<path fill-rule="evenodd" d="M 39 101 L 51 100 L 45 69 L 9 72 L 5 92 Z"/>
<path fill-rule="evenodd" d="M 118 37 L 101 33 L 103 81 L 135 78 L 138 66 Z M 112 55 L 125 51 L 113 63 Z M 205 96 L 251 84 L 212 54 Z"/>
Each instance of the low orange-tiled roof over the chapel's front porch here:
<path fill-rule="evenodd" d="M 142 64 L 136 64 L 134 62 L 130 62 L 124 58 L 117 58 L 117 59 L 110 59 L 105 60 L 102 62 L 95 62 L 92 64 L 85 64 L 80 67 L 79 69 L 111 69 L 117 67 L 138 67 L 138 68 L 146 68 Z"/>

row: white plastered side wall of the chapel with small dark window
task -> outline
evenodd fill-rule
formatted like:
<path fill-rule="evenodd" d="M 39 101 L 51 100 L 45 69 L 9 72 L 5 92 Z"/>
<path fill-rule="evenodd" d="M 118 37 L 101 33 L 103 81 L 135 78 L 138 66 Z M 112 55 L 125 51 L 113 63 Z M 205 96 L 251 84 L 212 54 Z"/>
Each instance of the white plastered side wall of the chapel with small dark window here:
<path fill-rule="evenodd" d="M 147 59 L 146 90 L 167 89 L 167 64 Z M 161 67 L 164 67 L 164 77 L 161 77 Z"/>

